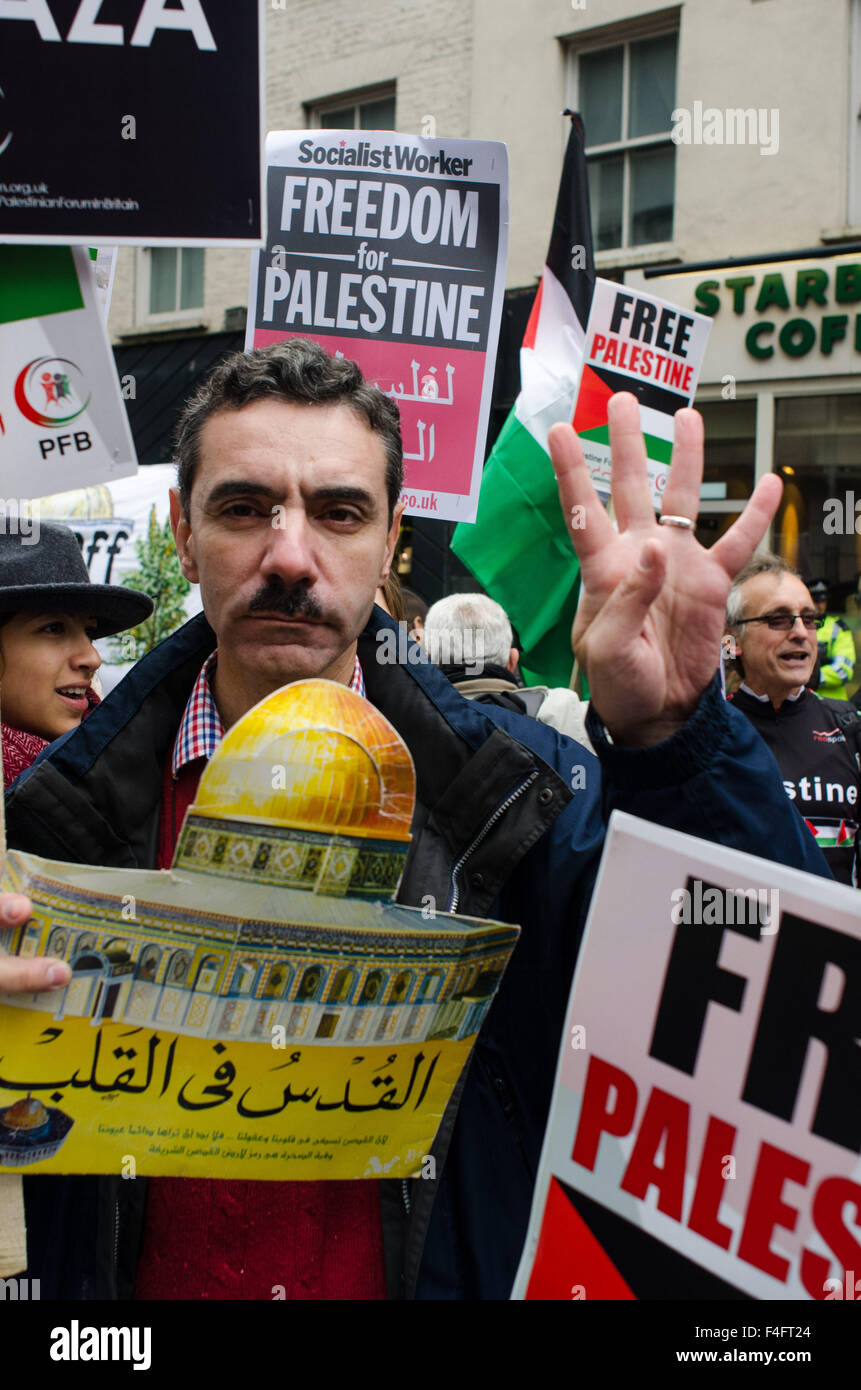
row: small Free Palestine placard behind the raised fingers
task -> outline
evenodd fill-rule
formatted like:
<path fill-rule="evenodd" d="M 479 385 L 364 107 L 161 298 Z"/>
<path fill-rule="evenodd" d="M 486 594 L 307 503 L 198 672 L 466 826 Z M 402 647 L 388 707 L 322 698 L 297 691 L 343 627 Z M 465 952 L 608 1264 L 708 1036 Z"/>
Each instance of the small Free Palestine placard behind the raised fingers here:
<path fill-rule="evenodd" d="M 652 505 L 661 507 L 673 452 L 673 416 L 690 406 L 712 321 L 663 299 L 597 279 L 573 425 L 598 492 L 609 492 L 606 403 L 616 391 L 640 402 Z"/>

